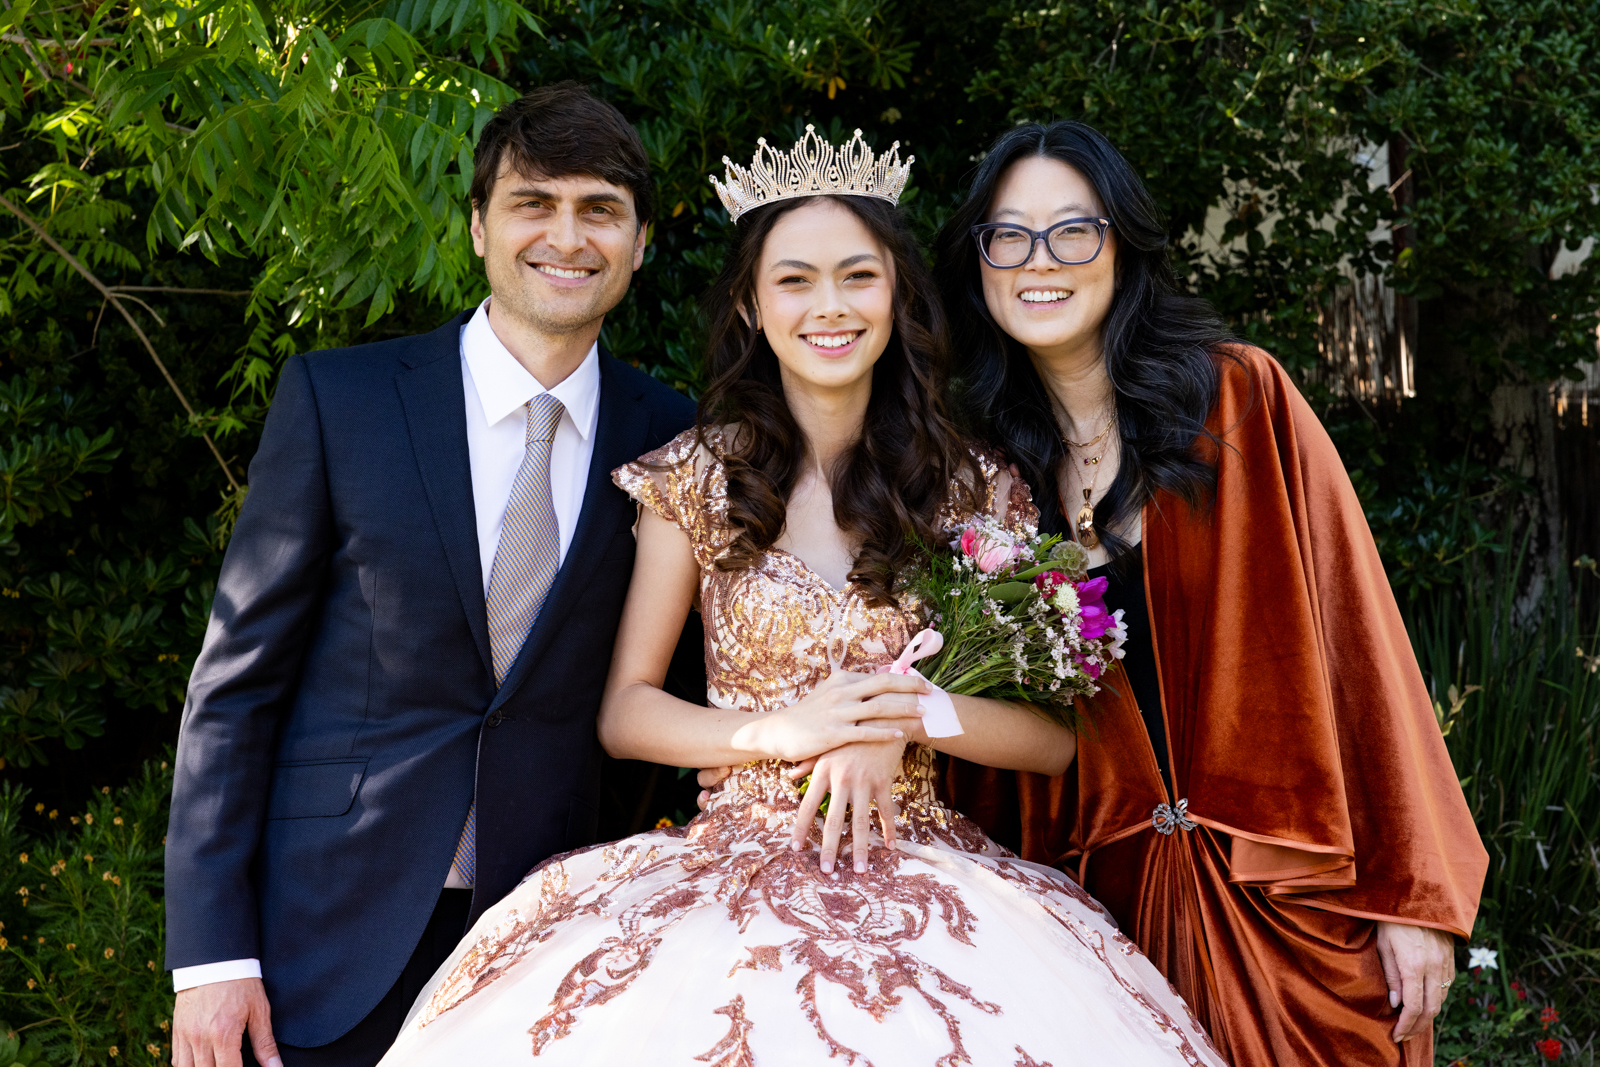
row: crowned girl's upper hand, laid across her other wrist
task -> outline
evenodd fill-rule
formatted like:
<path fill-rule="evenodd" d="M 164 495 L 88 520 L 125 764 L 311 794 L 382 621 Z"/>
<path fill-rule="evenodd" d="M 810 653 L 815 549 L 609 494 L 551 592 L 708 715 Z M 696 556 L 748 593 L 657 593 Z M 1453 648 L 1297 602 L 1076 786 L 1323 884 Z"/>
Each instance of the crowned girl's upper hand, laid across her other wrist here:
<path fill-rule="evenodd" d="M 733 734 L 746 752 L 798 763 L 840 745 L 856 742 L 899 742 L 906 731 L 874 720 L 917 718 L 917 697 L 931 693 L 926 681 L 912 675 L 853 673 L 835 670 L 797 704 L 781 712 L 752 715 Z"/>

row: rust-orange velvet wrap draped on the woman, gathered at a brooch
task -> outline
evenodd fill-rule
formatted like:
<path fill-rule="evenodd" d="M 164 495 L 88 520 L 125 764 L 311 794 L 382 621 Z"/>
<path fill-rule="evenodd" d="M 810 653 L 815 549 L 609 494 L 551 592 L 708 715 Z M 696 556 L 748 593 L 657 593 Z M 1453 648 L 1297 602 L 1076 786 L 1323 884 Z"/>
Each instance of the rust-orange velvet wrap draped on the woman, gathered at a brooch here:
<path fill-rule="evenodd" d="M 1214 507 L 1144 509 L 1178 797 L 1120 667 L 1067 774 L 952 761 L 947 787 L 1077 873 L 1235 1067 L 1426 1064 L 1432 1037 L 1389 1037 L 1374 920 L 1469 936 L 1488 854 L 1333 442 L 1275 360 L 1232 355 Z M 1158 833 L 1179 798 L 1195 829 Z"/>

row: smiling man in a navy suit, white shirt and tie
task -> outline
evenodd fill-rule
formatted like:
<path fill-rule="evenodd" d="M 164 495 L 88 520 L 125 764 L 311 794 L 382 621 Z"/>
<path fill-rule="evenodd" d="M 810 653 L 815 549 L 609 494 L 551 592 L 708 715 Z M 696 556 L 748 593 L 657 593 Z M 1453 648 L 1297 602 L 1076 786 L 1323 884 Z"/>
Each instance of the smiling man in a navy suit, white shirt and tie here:
<path fill-rule="evenodd" d="M 472 208 L 475 312 L 283 368 L 178 742 L 178 1067 L 374 1064 L 467 925 L 594 838 L 610 472 L 693 422 L 597 344 L 650 165 L 547 86 L 485 126 Z"/>

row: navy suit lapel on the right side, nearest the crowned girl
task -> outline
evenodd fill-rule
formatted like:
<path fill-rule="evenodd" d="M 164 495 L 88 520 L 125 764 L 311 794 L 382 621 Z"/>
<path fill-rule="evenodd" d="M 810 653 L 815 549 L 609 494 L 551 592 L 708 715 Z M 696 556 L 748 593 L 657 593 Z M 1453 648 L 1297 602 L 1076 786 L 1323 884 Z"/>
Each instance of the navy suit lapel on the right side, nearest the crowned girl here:
<path fill-rule="evenodd" d="M 600 418 L 595 424 L 595 450 L 589 461 L 589 480 L 584 485 L 584 509 L 578 517 L 578 530 L 566 557 L 562 560 L 562 569 L 555 573 L 550 592 L 544 595 L 539 617 L 533 624 L 528 640 L 523 641 L 522 651 L 517 653 L 490 710 L 509 701 L 522 686 L 530 664 L 538 662 L 562 619 L 581 598 L 587 584 L 586 577 L 600 565 L 600 555 L 610 544 L 616 525 L 634 522 L 634 506 L 621 490 L 611 485 L 611 472 L 645 453 L 645 442 L 650 440 L 650 411 L 643 403 L 643 390 L 624 384 L 621 374 L 616 373 L 618 366 L 618 362 L 602 349 Z M 482 600 L 480 592 L 478 601 L 482 603 Z M 483 646 L 488 648 L 486 625 Z"/>

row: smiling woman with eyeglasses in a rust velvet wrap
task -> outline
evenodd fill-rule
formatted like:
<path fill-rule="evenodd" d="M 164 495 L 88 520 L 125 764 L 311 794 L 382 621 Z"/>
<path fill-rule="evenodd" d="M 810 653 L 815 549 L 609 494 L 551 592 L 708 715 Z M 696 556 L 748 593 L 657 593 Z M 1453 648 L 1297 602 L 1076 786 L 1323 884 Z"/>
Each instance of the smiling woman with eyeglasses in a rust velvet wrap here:
<path fill-rule="evenodd" d="M 1427 1064 L 1486 854 L 1331 440 L 1166 240 L 1075 122 L 1003 134 L 941 235 L 971 427 L 1130 633 L 1067 774 L 947 787 L 1074 873 L 1237 1067 Z"/>

